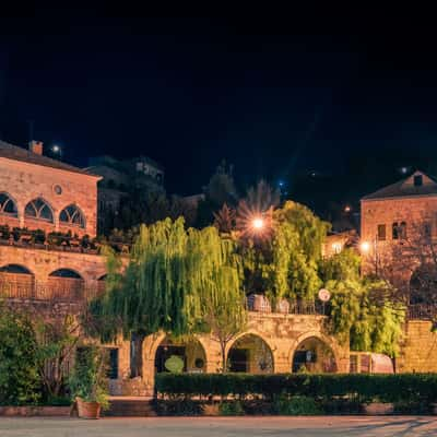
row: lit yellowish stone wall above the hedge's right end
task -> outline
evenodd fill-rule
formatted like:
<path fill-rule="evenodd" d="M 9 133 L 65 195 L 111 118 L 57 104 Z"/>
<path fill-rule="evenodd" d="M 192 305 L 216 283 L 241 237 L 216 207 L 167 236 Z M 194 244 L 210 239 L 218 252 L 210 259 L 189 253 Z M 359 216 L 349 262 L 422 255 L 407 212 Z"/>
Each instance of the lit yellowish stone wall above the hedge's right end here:
<path fill-rule="evenodd" d="M 399 373 L 437 371 L 437 333 L 432 332 L 430 321 L 410 320 L 406 323 L 404 344 L 395 367 Z"/>

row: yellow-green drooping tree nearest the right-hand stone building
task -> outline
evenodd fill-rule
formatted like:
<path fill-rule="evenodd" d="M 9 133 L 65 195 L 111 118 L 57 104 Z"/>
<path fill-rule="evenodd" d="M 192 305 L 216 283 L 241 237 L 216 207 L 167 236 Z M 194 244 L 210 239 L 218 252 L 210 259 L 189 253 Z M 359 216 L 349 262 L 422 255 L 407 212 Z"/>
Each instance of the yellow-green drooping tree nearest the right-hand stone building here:
<path fill-rule="evenodd" d="M 399 354 L 405 308 L 392 299 L 385 281 L 361 277 L 359 257 L 344 250 L 323 262 L 321 276 L 332 292 L 330 323 L 334 335 L 352 351 Z"/>

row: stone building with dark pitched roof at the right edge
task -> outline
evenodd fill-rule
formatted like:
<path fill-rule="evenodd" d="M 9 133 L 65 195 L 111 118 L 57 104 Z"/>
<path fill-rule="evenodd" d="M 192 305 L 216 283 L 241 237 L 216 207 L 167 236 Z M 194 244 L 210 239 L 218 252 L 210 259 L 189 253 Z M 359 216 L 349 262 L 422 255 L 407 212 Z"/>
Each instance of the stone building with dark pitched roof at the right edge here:
<path fill-rule="evenodd" d="M 386 277 L 411 304 L 397 370 L 437 371 L 437 333 L 430 321 L 435 307 L 415 295 L 421 285 L 436 293 L 437 181 L 415 172 L 365 196 L 361 226 L 363 272 Z"/>

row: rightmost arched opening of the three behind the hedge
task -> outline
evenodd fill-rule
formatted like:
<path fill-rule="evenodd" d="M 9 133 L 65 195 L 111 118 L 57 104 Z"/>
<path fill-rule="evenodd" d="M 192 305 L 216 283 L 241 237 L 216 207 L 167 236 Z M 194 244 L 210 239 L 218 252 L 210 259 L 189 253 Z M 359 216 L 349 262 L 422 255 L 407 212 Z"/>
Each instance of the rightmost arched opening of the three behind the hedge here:
<path fill-rule="evenodd" d="M 297 345 L 293 354 L 292 371 L 335 373 L 334 353 L 324 341 L 309 336 Z"/>

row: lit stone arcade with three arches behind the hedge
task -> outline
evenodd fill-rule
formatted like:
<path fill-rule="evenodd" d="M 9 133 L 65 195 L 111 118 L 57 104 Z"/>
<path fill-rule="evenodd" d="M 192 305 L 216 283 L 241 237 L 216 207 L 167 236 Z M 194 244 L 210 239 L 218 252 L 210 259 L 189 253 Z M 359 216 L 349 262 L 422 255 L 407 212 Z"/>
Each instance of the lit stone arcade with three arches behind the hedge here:
<path fill-rule="evenodd" d="M 220 345 L 208 334 L 184 340 L 165 334 L 146 336 L 141 371 L 134 375 L 130 344 L 115 346 L 119 347 L 119 375 L 110 385 L 114 394 L 151 395 L 156 373 L 169 369 L 217 373 L 222 368 Z M 304 355 L 308 361 L 303 362 Z M 304 365 L 307 371 L 349 371 L 349 349 L 327 335 L 319 316 L 250 312 L 247 330 L 227 345 L 226 357 L 229 371 L 290 373 L 296 371 L 297 363 L 297 370 Z"/>

